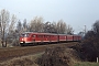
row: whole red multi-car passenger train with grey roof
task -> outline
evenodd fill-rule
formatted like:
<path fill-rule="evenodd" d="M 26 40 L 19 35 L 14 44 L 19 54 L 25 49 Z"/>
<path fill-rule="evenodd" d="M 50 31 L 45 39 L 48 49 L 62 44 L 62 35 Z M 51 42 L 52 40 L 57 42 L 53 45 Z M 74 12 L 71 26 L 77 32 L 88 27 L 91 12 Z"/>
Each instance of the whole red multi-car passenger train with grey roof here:
<path fill-rule="evenodd" d="M 72 42 L 80 40 L 81 36 L 79 35 L 25 32 L 20 36 L 20 45 L 23 46 L 38 43 Z"/>

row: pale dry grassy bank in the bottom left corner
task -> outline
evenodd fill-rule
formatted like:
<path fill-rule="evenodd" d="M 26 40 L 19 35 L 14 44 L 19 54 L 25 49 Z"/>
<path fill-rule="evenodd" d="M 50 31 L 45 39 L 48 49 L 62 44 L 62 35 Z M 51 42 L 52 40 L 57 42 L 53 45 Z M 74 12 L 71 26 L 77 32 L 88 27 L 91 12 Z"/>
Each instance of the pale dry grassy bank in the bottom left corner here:
<path fill-rule="evenodd" d="M 37 57 L 40 57 L 43 53 L 28 55 L 22 57 L 14 57 L 10 61 L 6 61 L 0 63 L 0 66 L 38 66 L 35 64 Z"/>

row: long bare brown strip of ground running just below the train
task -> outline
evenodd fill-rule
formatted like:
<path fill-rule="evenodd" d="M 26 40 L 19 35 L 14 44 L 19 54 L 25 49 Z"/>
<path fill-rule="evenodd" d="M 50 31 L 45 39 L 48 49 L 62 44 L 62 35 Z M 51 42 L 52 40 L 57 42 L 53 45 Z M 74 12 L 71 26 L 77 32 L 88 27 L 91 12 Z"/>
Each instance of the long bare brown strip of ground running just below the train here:
<path fill-rule="evenodd" d="M 47 47 L 56 46 L 73 46 L 77 42 L 73 43 L 59 43 L 59 44 L 48 44 L 48 45 L 37 45 L 37 46 L 24 46 L 24 47 L 7 47 L 0 48 L 0 63 L 13 57 L 21 57 L 25 55 L 32 55 L 36 53 L 44 52 Z"/>

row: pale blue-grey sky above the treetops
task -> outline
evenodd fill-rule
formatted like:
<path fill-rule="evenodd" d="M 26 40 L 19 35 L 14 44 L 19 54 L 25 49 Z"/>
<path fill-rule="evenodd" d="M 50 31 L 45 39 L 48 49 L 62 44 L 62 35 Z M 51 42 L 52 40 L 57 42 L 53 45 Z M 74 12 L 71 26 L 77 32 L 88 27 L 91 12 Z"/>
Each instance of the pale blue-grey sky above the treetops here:
<path fill-rule="evenodd" d="M 91 30 L 99 20 L 99 0 L 0 0 L 0 11 L 6 9 L 18 19 L 31 21 L 42 16 L 44 21 L 64 20 L 74 32 Z"/>

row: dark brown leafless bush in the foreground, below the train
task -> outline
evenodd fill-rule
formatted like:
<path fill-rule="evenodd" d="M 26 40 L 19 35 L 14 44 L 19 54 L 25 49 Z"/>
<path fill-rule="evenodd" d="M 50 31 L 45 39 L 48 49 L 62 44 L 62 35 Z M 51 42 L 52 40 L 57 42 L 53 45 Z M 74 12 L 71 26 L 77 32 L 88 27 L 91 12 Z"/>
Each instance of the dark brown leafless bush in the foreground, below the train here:
<path fill-rule="evenodd" d="M 80 61 L 77 52 L 68 47 L 47 48 L 45 53 L 37 59 L 41 66 L 73 66 Z"/>

